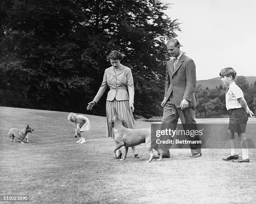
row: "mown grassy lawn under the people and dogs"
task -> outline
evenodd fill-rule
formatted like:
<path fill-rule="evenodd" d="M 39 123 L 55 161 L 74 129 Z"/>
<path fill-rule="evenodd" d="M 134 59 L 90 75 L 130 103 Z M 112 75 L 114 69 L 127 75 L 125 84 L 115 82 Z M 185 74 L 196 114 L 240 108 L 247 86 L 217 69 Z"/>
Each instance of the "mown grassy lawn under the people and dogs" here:
<path fill-rule="evenodd" d="M 228 149 L 202 149 L 198 158 L 189 157 L 190 149 L 172 149 L 170 159 L 145 163 L 141 144 L 139 159 L 129 149 L 120 162 L 105 137 L 105 117 L 84 114 L 92 129 L 87 143 L 77 144 L 67 115 L 0 107 L 0 195 L 28 195 L 31 203 L 255 203 L 255 149 L 250 163 L 222 161 Z M 10 142 L 8 130 L 27 124 L 35 130 L 30 143 Z M 151 124 L 136 121 L 136 127 Z"/>

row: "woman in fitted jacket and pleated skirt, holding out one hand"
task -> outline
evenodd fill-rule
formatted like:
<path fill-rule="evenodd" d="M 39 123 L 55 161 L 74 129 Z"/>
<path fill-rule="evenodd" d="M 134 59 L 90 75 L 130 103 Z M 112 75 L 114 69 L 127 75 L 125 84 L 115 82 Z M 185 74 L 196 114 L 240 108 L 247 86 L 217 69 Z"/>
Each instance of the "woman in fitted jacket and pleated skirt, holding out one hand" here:
<path fill-rule="evenodd" d="M 133 75 L 129 67 L 125 67 L 120 63 L 123 60 L 124 55 L 114 50 L 107 56 L 107 61 L 112 65 L 105 70 L 102 84 L 94 97 L 93 101 L 88 103 L 87 110 L 92 109 L 93 106 L 100 100 L 103 93 L 110 87 L 106 102 L 106 115 L 108 126 L 108 137 L 113 137 L 113 129 L 109 127 L 110 121 L 114 117 L 114 108 L 117 114 L 126 122 L 128 128 L 135 129 L 135 123 L 133 118 L 134 111 L 134 85 Z M 128 92 L 129 95 L 128 95 Z M 132 147 L 135 158 L 139 158 L 138 150 Z M 120 159 L 122 153 L 120 149 L 116 151 L 115 159 Z"/>

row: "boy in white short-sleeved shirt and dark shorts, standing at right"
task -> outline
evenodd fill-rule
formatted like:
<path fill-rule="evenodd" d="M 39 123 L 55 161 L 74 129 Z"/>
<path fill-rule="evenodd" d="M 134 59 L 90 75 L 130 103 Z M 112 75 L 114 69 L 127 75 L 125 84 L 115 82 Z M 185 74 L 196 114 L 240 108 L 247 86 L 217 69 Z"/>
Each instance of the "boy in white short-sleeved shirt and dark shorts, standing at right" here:
<path fill-rule="evenodd" d="M 253 116 L 246 100 L 243 97 L 243 91 L 234 82 L 236 71 L 228 67 L 220 70 L 220 80 L 224 85 L 228 85 L 226 90 L 226 108 L 229 111 L 228 129 L 231 134 L 229 137 L 231 153 L 224 160 L 233 160 L 233 162 L 250 162 L 248 157 L 248 142 L 246 140 L 246 123 L 248 115 Z M 235 137 L 237 132 L 242 147 L 242 157 L 238 156 L 237 142 Z"/>

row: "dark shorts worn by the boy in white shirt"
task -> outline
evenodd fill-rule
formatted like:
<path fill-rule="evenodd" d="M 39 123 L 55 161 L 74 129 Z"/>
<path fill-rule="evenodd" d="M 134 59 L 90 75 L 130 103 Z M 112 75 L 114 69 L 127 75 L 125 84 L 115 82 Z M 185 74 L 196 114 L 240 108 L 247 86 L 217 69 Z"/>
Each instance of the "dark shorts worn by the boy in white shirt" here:
<path fill-rule="evenodd" d="M 229 124 L 230 132 L 245 133 L 248 115 L 243 108 L 235 108 L 229 110 Z"/>

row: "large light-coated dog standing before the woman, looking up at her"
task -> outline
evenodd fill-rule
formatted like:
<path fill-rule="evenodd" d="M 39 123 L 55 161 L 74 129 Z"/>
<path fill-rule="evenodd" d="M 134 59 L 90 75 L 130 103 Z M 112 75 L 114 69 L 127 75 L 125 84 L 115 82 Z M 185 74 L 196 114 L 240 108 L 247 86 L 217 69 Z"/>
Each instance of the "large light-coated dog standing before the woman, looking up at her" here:
<path fill-rule="evenodd" d="M 146 149 L 150 153 L 150 158 L 146 162 L 151 162 L 154 157 L 153 149 L 151 148 L 151 130 L 150 129 L 130 129 L 125 128 L 126 123 L 117 114 L 114 115 L 113 120 L 110 121 L 110 127 L 113 127 L 113 132 L 115 136 L 115 151 L 123 146 L 125 146 L 125 154 L 120 160 L 125 160 L 129 147 L 134 147 L 138 144 L 145 143 Z M 154 149 L 160 154 L 158 161 L 163 157 L 162 151 L 154 147 Z"/>

